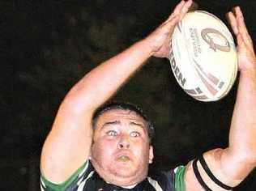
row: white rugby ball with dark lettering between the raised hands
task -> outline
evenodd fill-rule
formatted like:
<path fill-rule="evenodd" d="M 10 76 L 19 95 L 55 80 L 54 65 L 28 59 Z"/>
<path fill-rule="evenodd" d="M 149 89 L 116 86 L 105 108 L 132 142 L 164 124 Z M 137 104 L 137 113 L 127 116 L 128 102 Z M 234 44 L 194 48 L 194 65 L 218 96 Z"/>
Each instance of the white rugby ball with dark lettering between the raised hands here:
<path fill-rule="evenodd" d="M 191 11 L 174 28 L 170 64 L 177 83 L 200 101 L 220 100 L 237 77 L 237 49 L 225 24 L 206 11 Z"/>

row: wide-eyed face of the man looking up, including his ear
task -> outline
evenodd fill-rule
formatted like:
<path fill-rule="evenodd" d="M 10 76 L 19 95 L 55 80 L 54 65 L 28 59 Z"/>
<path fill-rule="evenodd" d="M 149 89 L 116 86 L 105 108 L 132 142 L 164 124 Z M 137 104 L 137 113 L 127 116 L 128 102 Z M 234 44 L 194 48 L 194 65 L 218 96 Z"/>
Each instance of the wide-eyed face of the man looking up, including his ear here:
<path fill-rule="evenodd" d="M 114 185 L 134 185 L 147 176 L 153 151 L 147 122 L 135 112 L 113 109 L 96 121 L 91 161 L 96 172 Z"/>

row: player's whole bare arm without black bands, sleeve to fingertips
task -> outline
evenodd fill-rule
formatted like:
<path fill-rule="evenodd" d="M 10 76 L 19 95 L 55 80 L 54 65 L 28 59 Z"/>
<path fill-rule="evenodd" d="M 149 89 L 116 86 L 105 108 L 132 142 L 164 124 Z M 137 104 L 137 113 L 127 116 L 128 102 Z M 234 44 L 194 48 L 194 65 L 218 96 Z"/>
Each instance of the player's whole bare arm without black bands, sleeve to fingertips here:
<path fill-rule="evenodd" d="M 93 112 L 113 96 L 151 56 L 168 57 L 174 25 L 192 1 L 181 1 L 151 35 L 86 74 L 63 100 L 41 154 L 41 172 L 48 180 L 62 183 L 88 159 L 92 144 Z"/>

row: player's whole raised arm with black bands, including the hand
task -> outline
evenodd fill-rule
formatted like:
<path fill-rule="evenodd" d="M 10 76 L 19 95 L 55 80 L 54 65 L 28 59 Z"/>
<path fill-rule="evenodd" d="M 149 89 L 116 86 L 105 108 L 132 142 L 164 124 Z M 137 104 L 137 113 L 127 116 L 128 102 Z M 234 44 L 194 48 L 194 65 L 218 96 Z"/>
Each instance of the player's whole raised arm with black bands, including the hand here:
<path fill-rule="evenodd" d="M 240 70 L 237 100 L 233 111 L 226 149 L 203 154 L 208 168 L 217 180 L 229 187 L 237 186 L 256 166 L 256 57 L 253 41 L 245 27 L 239 6 L 228 13 L 229 23 L 237 36 L 237 53 Z M 201 159 L 202 161 L 202 159 Z M 203 181 L 211 190 L 227 190 L 204 169 L 203 162 L 194 163 Z M 200 179 L 200 178 L 199 178 Z M 201 180 L 202 181 L 202 180 Z M 193 185 L 193 186 L 192 186 Z M 195 186 L 196 185 L 196 186 Z M 193 164 L 186 170 L 186 190 L 205 190 L 194 175 Z"/>

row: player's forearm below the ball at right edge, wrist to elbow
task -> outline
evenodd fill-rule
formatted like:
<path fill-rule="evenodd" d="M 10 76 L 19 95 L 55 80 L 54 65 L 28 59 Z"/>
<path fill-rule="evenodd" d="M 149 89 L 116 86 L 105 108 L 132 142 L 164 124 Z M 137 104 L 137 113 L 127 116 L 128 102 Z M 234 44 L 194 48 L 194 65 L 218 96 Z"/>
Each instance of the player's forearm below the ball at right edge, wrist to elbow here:
<path fill-rule="evenodd" d="M 256 164 L 256 70 L 241 71 L 237 101 L 222 163 L 236 179 L 244 179 Z M 236 166 L 237 168 L 233 168 Z"/>

